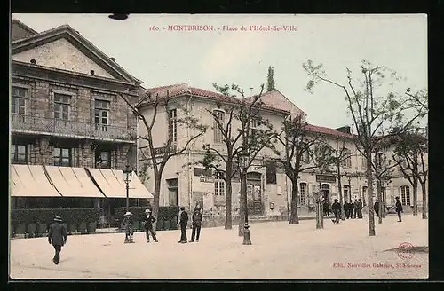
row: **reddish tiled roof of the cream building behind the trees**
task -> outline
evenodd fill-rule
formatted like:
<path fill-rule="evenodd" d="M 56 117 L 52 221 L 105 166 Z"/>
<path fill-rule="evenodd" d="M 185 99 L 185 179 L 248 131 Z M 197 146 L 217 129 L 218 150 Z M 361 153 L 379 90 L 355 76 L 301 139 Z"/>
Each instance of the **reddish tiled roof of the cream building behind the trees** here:
<path fill-rule="evenodd" d="M 152 97 L 158 96 L 158 98 L 174 98 L 182 95 L 193 95 L 193 96 L 199 96 L 203 98 L 211 98 L 218 101 L 228 102 L 228 103 L 235 103 L 235 104 L 242 104 L 245 101 L 249 101 L 249 98 L 245 98 L 242 100 L 241 98 L 234 98 L 230 96 L 226 96 L 223 94 L 220 94 L 218 92 L 210 91 L 210 90 L 204 90 L 201 88 L 195 88 L 188 86 L 188 83 L 178 83 L 173 85 L 167 85 L 167 86 L 161 86 L 161 87 L 155 87 L 155 88 L 148 88 L 147 94 L 151 94 Z M 150 101 L 142 102 L 139 106 L 147 106 L 150 103 Z M 274 106 L 262 106 L 265 109 L 289 114 L 289 111 L 282 110 L 280 108 L 276 108 Z"/>

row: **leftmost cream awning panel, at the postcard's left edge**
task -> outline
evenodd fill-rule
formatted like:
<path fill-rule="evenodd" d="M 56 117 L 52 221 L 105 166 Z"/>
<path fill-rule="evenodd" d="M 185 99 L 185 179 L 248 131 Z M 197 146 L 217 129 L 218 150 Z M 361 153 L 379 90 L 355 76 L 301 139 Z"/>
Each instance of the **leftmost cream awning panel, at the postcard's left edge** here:
<path fill-rule="evenodd" d="M 12 197 L 60 197 L 42 166 L 11 165 L 10 169 Z"/>

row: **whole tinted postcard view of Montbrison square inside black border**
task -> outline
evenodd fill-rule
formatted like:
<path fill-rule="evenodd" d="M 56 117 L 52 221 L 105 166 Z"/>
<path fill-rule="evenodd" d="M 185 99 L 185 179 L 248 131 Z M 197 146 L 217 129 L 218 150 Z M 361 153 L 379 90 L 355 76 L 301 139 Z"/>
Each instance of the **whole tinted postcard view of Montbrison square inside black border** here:
<path fill-rule="evenodd" d="M 12 14 L 10 279 L 428 278 L 426 38 Z"/>

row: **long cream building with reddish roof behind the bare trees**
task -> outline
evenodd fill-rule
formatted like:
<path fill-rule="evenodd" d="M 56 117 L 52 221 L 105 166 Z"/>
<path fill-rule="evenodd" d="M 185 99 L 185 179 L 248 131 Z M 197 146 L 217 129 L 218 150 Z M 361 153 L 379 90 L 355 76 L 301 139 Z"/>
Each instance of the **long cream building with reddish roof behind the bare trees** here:
<path fill-rule="evenodd" d="M 199 161 L 204 156 L 203 145 L 210 144 L 223 153 L 225 146 L 220 143 L 217 129 L 214 128 L 214 121 L 208 110 L 219 110 L 218 103 L 234 104 L 234 100 L 221 97 L 220 94 L 209 90 L 202 90 L 188 86 L 187 83 L 163 86 L 147 89 L 152 95 L 159 95 L 160 98 L 170 98 L 169 111 L 166 112 L 164 106 L 157 110 L 153 136 L 155 151 L 162 153 L 165 142 L 168 138 L 167 114 L 173 119 L 173 145 L 177 148 L 183 148 L 186 141 L 194 136 L 193 130 L 189 130 L 185 125 L 175 122 L 176 119 L 191 116 L 199 116 L 199 122 L 206 124 L 209 130 L 196 139 L 186 151 L 174 156 L 167 163 L 163 171 L 161 182 L 161 205 L 180 205 L 186 208 L 194 208 L 196 204 L 203 206 L 204 213 L 212 216 L 224 216 L 225 213 L 225 184 L 223 179 L 218 178 L 211 170 L 205 170 Z M 283 96 L 279 90 L 266 92 L 263 100 L 266 108 L 261 112 L 264 118 L 273 123 L 274 129 L 281 128 L 283 118 L 289 114 L 306 114 L 288 98 Z M 186 108 L 186 110 L 181 110 Z M 152 106 L 141 106 L 140 111 L 148 121 L 153 117 Z M 225 114 L 221 111 L 220 114 Z M 337 130 L 325 127 L 308 125 L 308 129 L 317 135 L 325 138 L 332 148 L 345 148 L 349 153 L 349 158 L 341 163 L 341 184 L 345 200 L 362 199 L 367 204 L 367 185 L 364 177 L 365 160 L 362 158 L 356 146 L 353 143 L 353 135 L 349 127 Z M 143 124 L 139 125 L 139 135 L 144 136 L 146 129 Z M 145 146 L 142 140 L 139 141 L 139 147 Z M 388 151 L 388 150 L 387 150 Z M 385 153 L 390 155 L 391 153 Z M 139 154 L 140 163 L 147 162 L 147 157 Z M 253 162 L 248 173 L 248 198 L 251 216 L 287 216 L 289 201 L 291 195 L 291 182 L 282 169 L 273 166 L 273 163 L 264 163 L 267 159 L 273 158 L 274 153 L 268 149 L 263 150 L 258 155 L 258 161 Z M 306 163 L 310 163 L 308 157 Z M 223 168 L 223 167 L 222 167 Z M 331 167 L 333 168 L 333 167 Z M 153 173 L 148 167 L 148 176 L 153 177 Z M 154 188 L 154 178 L 150 178 L 146 183 L 148 189 Z M 304 215 L 313 208 L 313 193 L 320 191 L 325 197 L 332 201 L 339 198 L 337 186 L 337 174 L 335 170 L 329 174 L 320 174 L 316 170 L 308 170 L 300 175 L 299 179 L 299 213 Z M 385 185 L 385 204 L 392 206 L 394 196 L 404 197 L 402 199 L 405 205 L 412 202 L 411 186 L 408 181 L 398 176 L 392 177 L 392 183 Z M 239 177 L 233 178 L 233 214 L 238 213 L 240 196 Z M 421 195 L 418 199 L 421 201 Z M 376 197 L 376 196 L 374 196 Z"/>

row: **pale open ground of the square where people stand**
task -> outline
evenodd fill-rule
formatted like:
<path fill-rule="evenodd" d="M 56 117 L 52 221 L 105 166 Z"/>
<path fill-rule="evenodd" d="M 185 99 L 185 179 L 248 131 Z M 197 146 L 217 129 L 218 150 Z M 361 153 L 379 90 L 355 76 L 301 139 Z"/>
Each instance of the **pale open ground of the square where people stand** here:
<path fill-rule="evenodd" d="M 428 220 L 386 216 L 369 237 L 368 218 L 333 224 L 250 225 L 252 245 L 242 245 L 237 227 L 204 228 L 200 242 L 177 243 L 180 232 L 157 232 L 147 243 L 136 232 L 68 236 L 59 265 L 46 238 L 11 240 L 12 279 L 424 279 L 428 252 L 398 253 L 402 243 L 428 246 Z M 188 239 L 191 230 L 187 230 Z M 390 250 L 392 249 L 392 250 Z"/>

